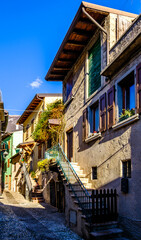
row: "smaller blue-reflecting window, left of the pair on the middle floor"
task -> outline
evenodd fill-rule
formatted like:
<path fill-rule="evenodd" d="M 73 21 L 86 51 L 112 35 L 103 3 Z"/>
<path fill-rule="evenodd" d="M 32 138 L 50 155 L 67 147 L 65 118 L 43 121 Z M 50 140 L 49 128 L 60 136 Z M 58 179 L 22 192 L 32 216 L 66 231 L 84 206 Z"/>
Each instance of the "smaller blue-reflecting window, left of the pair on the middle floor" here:
<path fill-rule="evenodd" d="M 98 103 L 90 107 L 89 113 L 90 133 L 99 131 L 99 107 Z"/>

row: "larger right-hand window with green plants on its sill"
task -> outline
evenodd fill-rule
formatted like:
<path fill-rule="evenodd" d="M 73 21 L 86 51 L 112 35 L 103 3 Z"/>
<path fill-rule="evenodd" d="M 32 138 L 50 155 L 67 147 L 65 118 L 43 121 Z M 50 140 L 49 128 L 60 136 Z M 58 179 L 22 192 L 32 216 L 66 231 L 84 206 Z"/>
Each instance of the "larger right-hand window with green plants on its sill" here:
<path fill-rule="evenodd" d="M 125 77 L 118 86 L 119 116 L 126 115 L 128 110 L 131 115 L 135 113 L 135 84 L 134 72 Z"/>

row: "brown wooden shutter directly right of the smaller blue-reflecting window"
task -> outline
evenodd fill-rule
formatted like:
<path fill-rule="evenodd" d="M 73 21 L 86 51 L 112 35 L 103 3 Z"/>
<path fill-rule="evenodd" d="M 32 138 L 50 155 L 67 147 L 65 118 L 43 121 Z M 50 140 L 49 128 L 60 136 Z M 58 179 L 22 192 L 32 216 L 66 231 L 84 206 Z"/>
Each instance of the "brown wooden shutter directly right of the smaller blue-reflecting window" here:
<path fill-rule="evenodd" d="M 106 130 L 106 93 L 100 97 L 100 131 Z"/>

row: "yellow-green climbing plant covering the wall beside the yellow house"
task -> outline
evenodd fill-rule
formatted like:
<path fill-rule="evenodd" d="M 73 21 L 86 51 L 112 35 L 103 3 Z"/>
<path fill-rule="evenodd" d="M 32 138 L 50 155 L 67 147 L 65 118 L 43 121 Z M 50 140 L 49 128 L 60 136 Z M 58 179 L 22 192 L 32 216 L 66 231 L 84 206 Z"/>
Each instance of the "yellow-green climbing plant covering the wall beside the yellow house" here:
<path fill-rule="evenodd" d="M 47 141 L 51 139 L 52 144 L 59 141 L 60 136 L 63 135 L 64 122 L 63 122 L 64 106 L 61 100 L 47 104 L 47 109 L 41 114 L 41 117 L 33 132 L 35 141 Z M 50 125 L 49 119 L 59 119 L 60 124 Z"/>

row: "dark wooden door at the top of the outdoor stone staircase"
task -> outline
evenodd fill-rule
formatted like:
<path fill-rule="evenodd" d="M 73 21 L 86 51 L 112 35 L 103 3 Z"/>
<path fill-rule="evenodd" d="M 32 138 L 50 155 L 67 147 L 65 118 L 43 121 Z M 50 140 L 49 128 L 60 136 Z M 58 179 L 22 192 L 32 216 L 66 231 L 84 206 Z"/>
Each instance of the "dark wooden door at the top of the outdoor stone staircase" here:
<path fill-rule="evenodd" d="M 70 162 L 73 160 L 73 130 L 67 133 L 67 158 Z"/>

